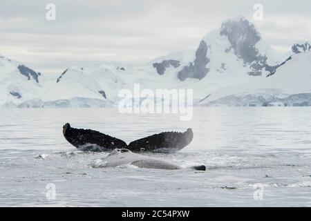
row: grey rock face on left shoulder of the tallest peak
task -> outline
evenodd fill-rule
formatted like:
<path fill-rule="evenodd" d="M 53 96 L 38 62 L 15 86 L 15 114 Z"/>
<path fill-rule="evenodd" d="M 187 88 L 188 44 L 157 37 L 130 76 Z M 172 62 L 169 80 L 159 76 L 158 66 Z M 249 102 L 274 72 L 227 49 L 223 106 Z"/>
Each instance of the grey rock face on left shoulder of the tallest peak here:
<path fill-rule="evenodd" d="M 209 58 L 207 57 L 208 46 L 205 41 L 200 42 L 200 46 L 196 50 L 196 59 L 194 63 L 190 63 L 185 66 L 178 73 L 178 79 L 180 81 L 185 81 L 187 78 L 202 79 L 209 72 L 209 68 L 206 68 L 209 64 Z"/>

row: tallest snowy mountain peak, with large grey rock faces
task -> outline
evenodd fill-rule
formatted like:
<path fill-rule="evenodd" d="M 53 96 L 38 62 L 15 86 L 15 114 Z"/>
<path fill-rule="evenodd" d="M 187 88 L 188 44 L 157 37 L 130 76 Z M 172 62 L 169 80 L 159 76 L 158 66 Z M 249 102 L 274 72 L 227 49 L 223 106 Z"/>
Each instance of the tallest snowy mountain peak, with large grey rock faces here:
<path fill-rule="evenodd" d="M 224 72 L 266 77 L 274 73 L 284 60 L 283 55 L 263 41 L 254 24 L 239 15 L 205 35 L 194 52 L 194 58 L 178 68 L 177 77 L 180 81 L 188 78 L 202 80 Z"/>

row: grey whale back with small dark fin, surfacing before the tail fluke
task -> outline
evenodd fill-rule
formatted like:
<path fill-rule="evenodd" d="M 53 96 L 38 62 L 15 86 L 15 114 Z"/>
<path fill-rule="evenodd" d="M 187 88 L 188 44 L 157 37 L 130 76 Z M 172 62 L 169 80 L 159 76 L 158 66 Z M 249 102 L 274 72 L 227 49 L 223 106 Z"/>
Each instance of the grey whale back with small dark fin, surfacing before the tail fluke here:
<path fill-rule="evenodd" d="M 111 151 L 111 153 L 109 153 L 107 157 L 102 159 L 102 162 L 104 162 L 104 164 L 101 164 L 101 166 L 94 166 L 94 167 L 115 167 L 131 164 L 145 169 L 166 169 L 166 170 L 182 169 L 181 166 L 178 166 L 171 162 L 158 160 L 157 158 L 154 157 L 148 157 L 137 153 L 133 153 L 126 148 L 114 149 L 113 151 Z M 189 169 L 195 169 L 198 171 L 206 170 L 204 165 L 191 166 L 189 167 Z"/>

